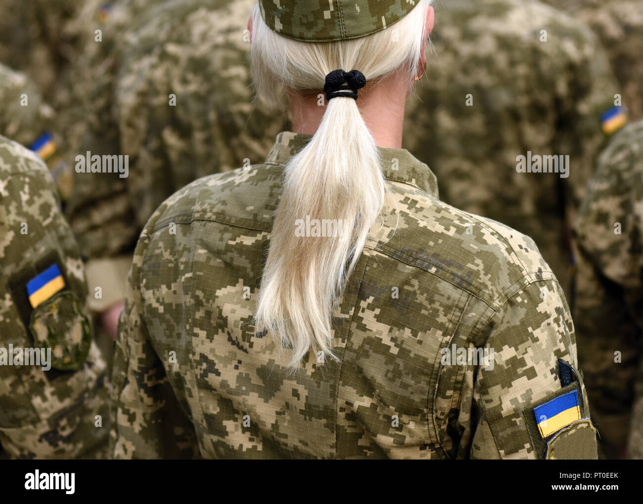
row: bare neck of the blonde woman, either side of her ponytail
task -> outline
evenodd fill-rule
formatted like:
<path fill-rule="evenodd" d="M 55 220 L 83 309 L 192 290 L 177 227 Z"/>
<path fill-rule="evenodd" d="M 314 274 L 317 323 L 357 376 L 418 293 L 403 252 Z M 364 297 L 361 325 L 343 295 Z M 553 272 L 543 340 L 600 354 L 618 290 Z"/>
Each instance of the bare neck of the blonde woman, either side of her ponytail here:
<path fill-rule="evenodd" d="M 377 146 L 401 148 L 407 94 L 406 83 L 394 77 L 359 90 L 358 109 Z M 293 132 L 313 135 L 317 131 L 327 103 L 321 96 L 288 93 Z"/>

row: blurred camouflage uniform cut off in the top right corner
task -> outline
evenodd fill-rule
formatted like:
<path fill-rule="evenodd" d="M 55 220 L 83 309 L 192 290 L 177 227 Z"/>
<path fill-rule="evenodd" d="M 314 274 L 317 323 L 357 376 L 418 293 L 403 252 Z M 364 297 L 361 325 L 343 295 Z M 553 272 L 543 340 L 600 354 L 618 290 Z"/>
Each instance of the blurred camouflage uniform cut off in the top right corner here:
<path fill-rule="evenodd" d="M 586 22 L 599 35 L 620 82 L 623 105 L 631 118 L 643 117 L 643 1 L 545 1 Z"/>

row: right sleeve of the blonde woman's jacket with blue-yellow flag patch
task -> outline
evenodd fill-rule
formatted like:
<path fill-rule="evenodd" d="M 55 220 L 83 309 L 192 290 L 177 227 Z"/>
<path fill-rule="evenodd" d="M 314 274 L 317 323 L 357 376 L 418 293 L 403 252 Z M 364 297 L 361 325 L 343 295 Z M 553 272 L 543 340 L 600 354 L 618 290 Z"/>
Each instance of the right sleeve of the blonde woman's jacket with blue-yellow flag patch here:
<path fill-rule="evenodd" d="M 531 282 L 510 295 L 483 330 L 489 331 L 489 362 L 480 366 L 473 386 L 469 456 L 596 458 L 574 326 L 559 284 Z M 577 376 L 565 387 L 559 360 Z M 541 406 L 545 415 L 536 409 Z M 566 413 L 556 418 L 557 410 Z"/>

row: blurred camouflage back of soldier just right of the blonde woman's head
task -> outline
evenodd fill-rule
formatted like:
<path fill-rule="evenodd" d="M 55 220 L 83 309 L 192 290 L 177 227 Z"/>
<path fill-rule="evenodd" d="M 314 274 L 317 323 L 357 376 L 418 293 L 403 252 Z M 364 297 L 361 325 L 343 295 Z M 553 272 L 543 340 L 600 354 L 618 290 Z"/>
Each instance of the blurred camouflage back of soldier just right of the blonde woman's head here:
<path fill-rule="evenodd" d="M 436 55 L 408 100 L 403 144 L 435 171 L 445 202 L 534 239 L 569 298 L 566 213 L 620 92 L 604 52 L 584 24 L 533 0 L 449 0 L 435 19 Z M 528 151 L 569 155 L 569 177 L 517 173 Z"/>

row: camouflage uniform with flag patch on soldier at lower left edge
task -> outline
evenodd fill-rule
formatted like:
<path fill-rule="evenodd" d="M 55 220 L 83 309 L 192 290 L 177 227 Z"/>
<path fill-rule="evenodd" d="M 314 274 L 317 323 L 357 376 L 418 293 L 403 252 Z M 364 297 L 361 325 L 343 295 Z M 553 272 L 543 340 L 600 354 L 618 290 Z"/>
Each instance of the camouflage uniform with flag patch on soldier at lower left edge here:
<path fill-rule="evenodd" d="M 109 394 L 84 315 L 82 261 L 47 168 L 5 137 L 0 236 L 0 444 L 15 458 L 102 458 Z M 33 281 L 52 267 L 58 271 L 53 283 L 32 293 Z M 12 347 L 50 348 L 51 369 L 15 365 L 18 360 L 10 365 Z"/>

